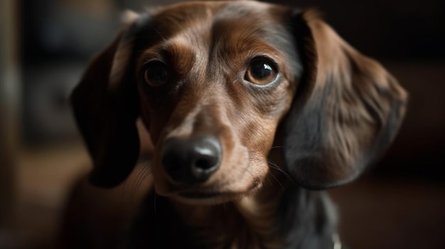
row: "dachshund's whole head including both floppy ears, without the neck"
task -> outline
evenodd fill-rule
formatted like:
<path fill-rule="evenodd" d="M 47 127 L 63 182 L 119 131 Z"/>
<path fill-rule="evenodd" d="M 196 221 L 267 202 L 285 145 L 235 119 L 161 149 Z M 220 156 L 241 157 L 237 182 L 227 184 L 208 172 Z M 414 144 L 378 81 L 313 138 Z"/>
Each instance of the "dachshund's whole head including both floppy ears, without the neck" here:
<path fill-rule="evenodd" d="M 191 2 L 124 23 L 72 95 L 98 186 L 132 171 L 139 116 L 156 147 L 156 192 L 218 202 L 261 187 L 274 141 L 302 187 L 349 182 L 404 115 L 396 80 L 311 11 Z"/>

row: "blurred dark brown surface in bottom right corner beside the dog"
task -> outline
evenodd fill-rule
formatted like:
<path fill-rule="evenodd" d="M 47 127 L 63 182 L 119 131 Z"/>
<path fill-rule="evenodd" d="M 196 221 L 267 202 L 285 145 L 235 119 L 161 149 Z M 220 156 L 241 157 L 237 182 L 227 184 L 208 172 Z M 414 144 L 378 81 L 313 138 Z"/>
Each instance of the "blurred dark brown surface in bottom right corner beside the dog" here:
<path fill-rule="evenodd" d="M 334 189 L 331 196 L 350 248 L 445 248 L 443 185 L 372 178 Z"/>

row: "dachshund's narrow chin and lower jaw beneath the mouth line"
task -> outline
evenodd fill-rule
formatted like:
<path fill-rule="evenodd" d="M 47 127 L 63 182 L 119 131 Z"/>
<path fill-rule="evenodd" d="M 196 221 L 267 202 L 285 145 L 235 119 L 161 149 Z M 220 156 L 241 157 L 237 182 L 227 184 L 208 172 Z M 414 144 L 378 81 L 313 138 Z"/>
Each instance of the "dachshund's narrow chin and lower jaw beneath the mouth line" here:
<path fill-rule="evenodd" d="M 193 191 L 182 191 L 174 194 L 168 194 L 168 199 L 177 201 L 182 204 L 188 205 L 208 205 L 214 206 L 219 204 L 225 204 L 228 202 L 239 201 L 240 199 L 250 196 L 261 188 L 259 182 L 247 187 L 245 191 L 239 192 L 218 192 L 218 191 L 203 191 L 200 189 L 193 189 Z"/>

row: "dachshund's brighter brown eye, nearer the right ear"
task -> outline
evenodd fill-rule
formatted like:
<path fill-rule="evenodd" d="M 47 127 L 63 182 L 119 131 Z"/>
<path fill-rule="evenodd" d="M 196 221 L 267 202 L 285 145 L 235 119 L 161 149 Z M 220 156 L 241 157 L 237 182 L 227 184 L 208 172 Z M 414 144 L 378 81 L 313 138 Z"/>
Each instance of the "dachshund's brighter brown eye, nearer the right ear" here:
<path fill-rule="evenodd" d="M 254 84 L 269 84 L 277 77 L 274 64 L 265 58 L 254 59 L 250 62 L 245 79 Z"/>

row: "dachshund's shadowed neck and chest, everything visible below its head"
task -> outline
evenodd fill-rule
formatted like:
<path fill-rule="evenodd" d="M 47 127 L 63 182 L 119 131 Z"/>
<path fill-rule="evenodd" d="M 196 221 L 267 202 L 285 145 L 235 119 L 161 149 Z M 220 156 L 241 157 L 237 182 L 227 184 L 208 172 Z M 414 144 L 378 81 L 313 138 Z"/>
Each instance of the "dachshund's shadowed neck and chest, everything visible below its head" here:
<path fill-rule="evenodd" d="M 152 190 L 134 221 L 130 248 L 333 248 L 328 199 L 290 180 L 280 183 L 216 206 L 176 203 Z"/>

